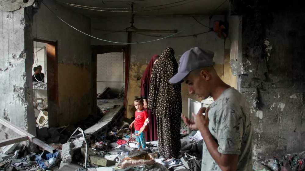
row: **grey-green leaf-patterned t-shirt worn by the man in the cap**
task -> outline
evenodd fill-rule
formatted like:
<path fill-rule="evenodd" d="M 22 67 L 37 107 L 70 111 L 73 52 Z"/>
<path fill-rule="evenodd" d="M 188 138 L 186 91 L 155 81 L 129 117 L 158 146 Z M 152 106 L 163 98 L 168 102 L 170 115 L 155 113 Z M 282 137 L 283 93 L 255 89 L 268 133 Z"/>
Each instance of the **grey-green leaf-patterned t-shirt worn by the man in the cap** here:
<path fill-rule="evenodd" d="M 236 89 L 226 89 L 209 106 L 209 130 L 221 154 L 239 155 L 237 171 L 252 171 L 253 124 L 249 104 Z M 202 171 L 220 171 L 203 141 Z"/>

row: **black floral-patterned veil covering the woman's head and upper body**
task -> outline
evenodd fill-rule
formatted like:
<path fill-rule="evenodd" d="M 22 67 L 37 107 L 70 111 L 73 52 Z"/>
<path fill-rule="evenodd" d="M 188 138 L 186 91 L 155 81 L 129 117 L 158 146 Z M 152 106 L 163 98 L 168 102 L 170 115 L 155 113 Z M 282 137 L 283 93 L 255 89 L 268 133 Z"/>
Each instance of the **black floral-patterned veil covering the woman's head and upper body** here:
<path fill-rule="evenodd" d="M 174 50 L 167 47 L 152 68 L 148 108 L 158 117 L 181 115 L 181 84 L 168 82 L 178 72 L 178 63 Z"/>

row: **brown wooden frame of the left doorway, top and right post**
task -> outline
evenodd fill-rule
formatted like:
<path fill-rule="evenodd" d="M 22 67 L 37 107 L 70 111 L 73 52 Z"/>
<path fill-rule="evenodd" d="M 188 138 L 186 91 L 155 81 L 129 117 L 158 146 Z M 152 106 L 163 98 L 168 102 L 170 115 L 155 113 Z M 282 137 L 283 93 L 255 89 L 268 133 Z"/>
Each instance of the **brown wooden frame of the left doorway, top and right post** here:
<path fill-rule="evenodd" d="M 34 38 L 36 42 L 46 43 L 47 51 L 47 94 L 48 94 L 48 124 L 49 127 L 58 125 L 58 48 L 57 41 L 44 40 L 43 38 Z M 52 71 L 52 72 L 51 72 Z"/>

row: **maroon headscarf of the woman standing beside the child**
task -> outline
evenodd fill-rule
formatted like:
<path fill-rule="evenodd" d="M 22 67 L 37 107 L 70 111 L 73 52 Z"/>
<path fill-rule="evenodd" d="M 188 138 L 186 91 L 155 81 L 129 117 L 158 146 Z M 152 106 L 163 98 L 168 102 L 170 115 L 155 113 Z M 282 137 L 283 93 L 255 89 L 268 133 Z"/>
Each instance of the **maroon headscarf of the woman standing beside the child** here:
<path fill-rule="evenodd" d="M 153 55 L 150 59 L 141 79 L 141 97 L 147 99 L 149 94 L 150 75 L 152 73 L 153 63 L 159 58 L 159 55 Z"/>

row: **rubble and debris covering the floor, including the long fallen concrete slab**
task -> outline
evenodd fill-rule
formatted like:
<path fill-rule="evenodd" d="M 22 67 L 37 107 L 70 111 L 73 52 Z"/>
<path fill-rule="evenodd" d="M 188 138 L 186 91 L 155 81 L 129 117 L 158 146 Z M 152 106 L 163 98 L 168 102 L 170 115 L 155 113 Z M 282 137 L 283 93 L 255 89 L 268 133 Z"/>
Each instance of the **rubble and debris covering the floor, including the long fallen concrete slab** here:
<path fill-rule="evenodd" d="M 2 147 L 0 171 L 165 171 L 193 169 L 200 163 L 200 132 L 187 134 L 185 127 L 181 129 L 178 159 L 166 160 L 160 156 L 158 141 L 146 142 L 147 148 L 138 151 L 134 130 L 129 128 L 133 120 L 123 117 L 125 108 L 121 99 L 98 100 L 97 115 L 74 125 L 51 128 L 45 113 L 47 103 L 43 100 L 36 104 L 41 108 L 39 117 L 45 119 L 37 119 L 37 138 L 56 151 L 51 154 L 36 145 L 31 152 L 21 144 Z"/>

